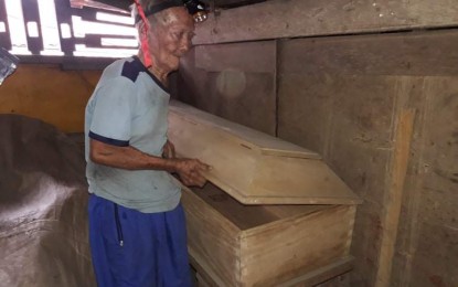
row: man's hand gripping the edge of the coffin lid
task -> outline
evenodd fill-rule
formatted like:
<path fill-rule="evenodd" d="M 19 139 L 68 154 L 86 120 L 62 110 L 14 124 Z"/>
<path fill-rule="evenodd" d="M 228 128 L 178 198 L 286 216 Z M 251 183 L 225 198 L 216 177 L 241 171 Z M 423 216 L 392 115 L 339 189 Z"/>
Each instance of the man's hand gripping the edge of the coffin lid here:
<path fill-rule="evenodd" d="M 209 164 L 201 162 L 198 159 L 175 159 L 177 173 L 180 176 L 184 185 L 196 185 L 202 188 L 206 179 L 202 176 L 203 172 L 209 171 Z"/>

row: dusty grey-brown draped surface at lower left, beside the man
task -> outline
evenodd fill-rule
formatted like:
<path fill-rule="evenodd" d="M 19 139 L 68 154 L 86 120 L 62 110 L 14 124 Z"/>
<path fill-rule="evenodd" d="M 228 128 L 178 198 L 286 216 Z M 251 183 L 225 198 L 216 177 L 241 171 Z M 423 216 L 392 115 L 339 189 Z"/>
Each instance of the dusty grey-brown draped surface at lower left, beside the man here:
<path fill-rule="evenodd" d="M 15 115 L 0 135 L 0 285 L 95 286 L 81 148 Z"/>

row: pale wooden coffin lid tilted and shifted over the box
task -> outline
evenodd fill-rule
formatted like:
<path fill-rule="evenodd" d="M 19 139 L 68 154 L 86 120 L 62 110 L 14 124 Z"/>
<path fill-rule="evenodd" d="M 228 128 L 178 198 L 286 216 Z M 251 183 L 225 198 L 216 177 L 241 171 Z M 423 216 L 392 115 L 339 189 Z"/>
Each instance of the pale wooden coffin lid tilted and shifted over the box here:
<path fill-rule="evenodd" d="M 172 100 L 169 138 L 180 157 L 244 204 L 355 204 L 359 198 L 313 151 Z"/>

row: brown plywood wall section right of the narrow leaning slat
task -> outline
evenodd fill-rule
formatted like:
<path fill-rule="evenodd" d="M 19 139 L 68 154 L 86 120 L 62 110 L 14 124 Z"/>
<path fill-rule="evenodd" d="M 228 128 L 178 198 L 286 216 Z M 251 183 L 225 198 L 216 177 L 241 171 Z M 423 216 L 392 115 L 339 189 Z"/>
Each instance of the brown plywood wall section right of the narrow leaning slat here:
<path fill-rule="evenodd" d="M 408 213 L 412 226 L 401 258 L 402 270 L 408 274 L 404 283 L 416 286 L 455 286 L 458 283 L 458 261 L 455 246 L 458 228 L 457 160 L 458 160 L 458 79 L 456 77 L 426 77 L 424 85 L 424 121 L 418 166 L 412 167 L 415 177 L 416 203 Z M 412 203 L 411 203 L 412 204 Z"/>

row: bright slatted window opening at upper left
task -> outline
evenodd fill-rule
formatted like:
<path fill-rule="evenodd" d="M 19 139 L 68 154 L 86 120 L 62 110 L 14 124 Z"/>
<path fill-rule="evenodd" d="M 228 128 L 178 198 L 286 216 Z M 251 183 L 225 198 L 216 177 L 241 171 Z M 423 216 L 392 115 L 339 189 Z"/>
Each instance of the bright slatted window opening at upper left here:
<path fill-rule="evenodd" d="M 0 46 L 15 55 L 125 57 L 137 53 L 136 35 L 128 13 L 72 8 L 70 0 L 0 0 Z"/>

